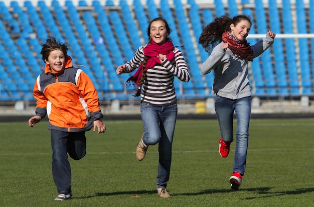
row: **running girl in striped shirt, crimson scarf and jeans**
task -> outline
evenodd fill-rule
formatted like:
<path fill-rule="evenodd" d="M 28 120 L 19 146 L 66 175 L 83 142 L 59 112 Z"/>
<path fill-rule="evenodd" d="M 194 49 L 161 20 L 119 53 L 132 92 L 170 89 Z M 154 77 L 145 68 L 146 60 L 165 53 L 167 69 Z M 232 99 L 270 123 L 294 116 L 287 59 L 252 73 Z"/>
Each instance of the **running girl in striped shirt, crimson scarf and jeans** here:
<path fill-rule="evenodd" d="M 177 120 L 177 96 L 174 79 L 188 82 L 190 74 L 181 51 L 168 37 L 171 30 L 166 20 L 156 18 L 147 29 L 148 44 L 140 46 L 134 57 L 116 69 L 116 73 L 137 71 L 125 83 L 135 86 L 140 96 L 140 113 L 144 133 L 136 148 L 136 158 L 144 159 L 149 145 L 159 144 L 157 192 L 168 198 L 166 190 L 172 161 L 172 143 Z M 144 173 L 139 176 L 145 176 Z"/>

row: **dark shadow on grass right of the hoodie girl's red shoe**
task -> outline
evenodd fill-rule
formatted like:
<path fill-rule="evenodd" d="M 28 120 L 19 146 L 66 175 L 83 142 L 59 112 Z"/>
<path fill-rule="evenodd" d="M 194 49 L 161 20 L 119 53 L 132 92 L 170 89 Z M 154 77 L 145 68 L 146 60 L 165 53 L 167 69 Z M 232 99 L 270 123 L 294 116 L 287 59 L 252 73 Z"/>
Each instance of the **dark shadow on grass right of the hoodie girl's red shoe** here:
<path fill-rule="evenodd" d="M 275 197 L 275 196 L 281 196 L 281 195 L 298 195 L 302 193 L 307 193 L 307 192 L 314 192 L 314 188 L 300 188 L 296 190 L 287 190 L 287 191 L 269 191 L 271 188 L 257 188 L 257 189 L 262 189 L 258 191 L 257 193 L 263 194 L 262 196 L 254 196 L 254 197 L 246 197 L 243 198 L 245 200 L 251 200 L 255 198 L 266 198 L 266 197 Z M 246 191 L 256 191 L 255 188 L 244 188 L 241 190 L 246 190 Z"/>

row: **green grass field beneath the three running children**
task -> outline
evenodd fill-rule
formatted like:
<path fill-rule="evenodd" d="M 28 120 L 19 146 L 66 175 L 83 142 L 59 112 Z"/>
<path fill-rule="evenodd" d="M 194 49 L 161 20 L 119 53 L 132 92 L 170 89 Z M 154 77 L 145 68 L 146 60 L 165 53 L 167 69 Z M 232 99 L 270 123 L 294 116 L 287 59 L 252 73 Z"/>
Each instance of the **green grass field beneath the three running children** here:
<path fill-rule="evenodd" d="M 87 155 L 69 158 L 72 200 L 54 201 L 47 122 L 0 123 L 0 206 L 312 206 L 314 119 L 251 120 L 246 173 L 230 189 L 235 142 L 222 158 L 217 120 L 178 120 L 167 190 L 156 194 L 158 146 L 139 162 L 142 123 L 105 121 L 86 133 Z"/>

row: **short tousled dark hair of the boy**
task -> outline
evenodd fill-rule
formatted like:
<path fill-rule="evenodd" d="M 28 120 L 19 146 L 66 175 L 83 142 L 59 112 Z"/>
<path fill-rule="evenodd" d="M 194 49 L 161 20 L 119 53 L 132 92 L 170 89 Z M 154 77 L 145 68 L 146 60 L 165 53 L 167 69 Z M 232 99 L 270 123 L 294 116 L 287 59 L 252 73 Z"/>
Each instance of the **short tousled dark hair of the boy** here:
<path fill-rule="evenodd" d="M 54 50 L 61 50 L 65 56 L 67 56 L 68 52 L 68 46 L 64 43 L 61 43 L 59 40 L 56 40 L 55 37 L 49 37 L 46 39 L 46 43 L 42 45 L 42 50 L 40 54 L 43 56 L 42 59 L 45 62 L 45 60 L 48 60 L 48 56 L 51 51 Z"/>

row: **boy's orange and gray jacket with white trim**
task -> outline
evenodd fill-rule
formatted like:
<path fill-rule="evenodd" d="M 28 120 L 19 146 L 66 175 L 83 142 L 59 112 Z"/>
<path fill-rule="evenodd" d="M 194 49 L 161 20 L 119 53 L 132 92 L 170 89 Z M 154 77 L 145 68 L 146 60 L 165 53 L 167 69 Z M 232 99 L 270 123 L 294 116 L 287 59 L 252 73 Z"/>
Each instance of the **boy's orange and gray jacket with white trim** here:
<path fill-rule="evenodd" d="M 48 115 L 48 129 L 88 131 L 94 120 L 103 117 L 95 86 L 83 70 L 72 66 L 70 56 L 58 74 L 47 64 L 36 79 L 33 93 L 37 99 L 36 115 L 42 119 Z"/>

